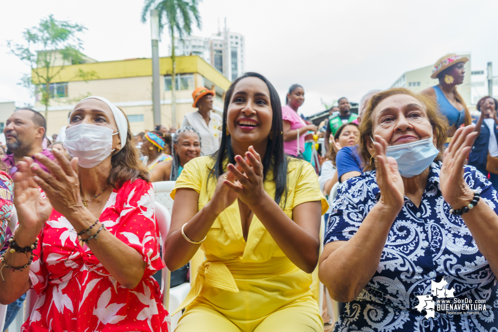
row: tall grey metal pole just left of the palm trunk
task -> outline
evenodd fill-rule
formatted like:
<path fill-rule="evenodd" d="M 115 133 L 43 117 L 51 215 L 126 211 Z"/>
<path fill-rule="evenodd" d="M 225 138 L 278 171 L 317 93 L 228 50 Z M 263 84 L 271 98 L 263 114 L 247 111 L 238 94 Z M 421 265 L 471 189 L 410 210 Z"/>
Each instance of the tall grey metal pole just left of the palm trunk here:
<path fill-rule="evenodd" d="M 154 125 L 161 124 L 161 89 L 159 76 L 159 12 L 151 10 L 152 39 L 152 110 Z"/>

